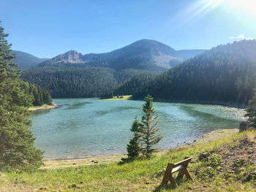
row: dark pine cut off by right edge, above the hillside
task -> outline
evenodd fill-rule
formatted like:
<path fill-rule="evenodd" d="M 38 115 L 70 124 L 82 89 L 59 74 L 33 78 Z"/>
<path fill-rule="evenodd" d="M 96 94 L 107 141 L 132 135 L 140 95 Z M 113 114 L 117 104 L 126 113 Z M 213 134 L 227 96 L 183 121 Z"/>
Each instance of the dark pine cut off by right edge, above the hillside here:
<path fill-rule="evenodd" d="M 249 100 L 249 107 L 246 109 L 245 117 L 248 117 L 248 124 L 250 128 L 256 128 L 256 89 L 253 90 L 252 99 Z"/>

